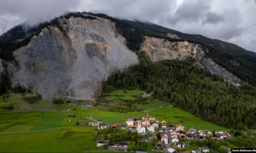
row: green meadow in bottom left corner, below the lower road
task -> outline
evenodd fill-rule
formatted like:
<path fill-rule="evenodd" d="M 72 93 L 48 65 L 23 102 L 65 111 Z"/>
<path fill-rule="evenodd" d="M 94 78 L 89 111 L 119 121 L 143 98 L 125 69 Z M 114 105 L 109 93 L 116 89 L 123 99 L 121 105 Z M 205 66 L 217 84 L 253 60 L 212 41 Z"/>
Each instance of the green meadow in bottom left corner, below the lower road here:
<path fill-rule="evenodd" d="M 96 150 L 94 127 L 1 135 L 0 152 L 85 152 Z M 84 149 L 87 148 L 87 149 Z"/>

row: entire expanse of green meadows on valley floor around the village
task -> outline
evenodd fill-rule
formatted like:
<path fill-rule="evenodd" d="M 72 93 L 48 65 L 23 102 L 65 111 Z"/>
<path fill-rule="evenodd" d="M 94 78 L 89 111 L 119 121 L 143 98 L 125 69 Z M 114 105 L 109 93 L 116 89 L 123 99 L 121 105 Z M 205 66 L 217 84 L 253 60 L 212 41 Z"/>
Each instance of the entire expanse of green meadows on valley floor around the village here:
<path fill-rule="evenodd" d="M 118 92 L 121 94 L 121 91 L 116 92 L 105 98 L 111 99 L 114 95 L 118 97 Z M 145 91 L 132 92 L 123 98 L 133 99 L 132 95 L 144 94 Z M 113 123 L 125 124 L 125 119 L 128 117 L 141 117 L 145 116 L 146 113 L 149 117 L 155 117 L 159 121 L 165 120 L 174 125 L 181 124 L 185 130 L 195 127 L 198 130 L 230 131 L 230 129 L 206 122 L 169 104 L 150 99 L 150 95 L 148 96 L 147 104 L 136 104 L 136 107 L 144 108 L 144 111 L 119 113 L 103 111 L 104 108 L 102 109 L 101 105 L 96 107 L 75 106 L 73 102 L 61 105 L 52 104 L 48 110 L 35 111 L 32 110 L 36 108 L 35 105 L 47 108 L 50 102 L 32 105 L 23 102 L 27 108 L 31 108 L 30 111 L 23 111 L 23 104 L 20 100 L 15 95 L 9 94 L 8 100 L 15 103 L 16 112 L 0 109 L 0 152 L 87 152 L 90 150 L 95 150 L 91 152 L 98 152 L 95 139 L 98 130 L 96 127 L 90 127 L 89 122 L 102 119 L 103 122 L 110 125 Z M 4 103 L 1 98 L 0 106 Z M 119 102 L 116 101 L 116 103 Z M 111 105 L 116 104 L 113 102 Z M 70 113 L 77 116 L 69 117 L 68 114 Z M 77 122 L 80 125 L 76 125 Z M 236 147 L 233 144 L 228 145 L 229 147 Z"/>

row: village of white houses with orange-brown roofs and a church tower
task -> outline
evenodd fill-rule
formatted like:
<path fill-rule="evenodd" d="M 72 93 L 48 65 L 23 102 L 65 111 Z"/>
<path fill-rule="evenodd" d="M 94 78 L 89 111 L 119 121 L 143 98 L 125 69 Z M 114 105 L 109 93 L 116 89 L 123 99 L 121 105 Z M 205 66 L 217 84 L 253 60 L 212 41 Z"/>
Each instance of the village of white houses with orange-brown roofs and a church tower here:
<path fill-rule="evenodd" d="M 198 139 L 199 141 L 204 141 L 206 139 L 213 139 L 215 141 L 222 139 L 231 139 L 230 133 L 222 130 L 219 132 L 211 132 L 209 130 L 196 130 L 194 127 L 190 127 L 189 130 L 185 130 L 185 127 L 182 125 L 172 125 L 165 121 L 157 121 L 155 118 L 148 118 L 147 116 L 140 117 L 129 117 L 125 120 L 126 124 L 122 125 L 121 123 L 113 123 L 108 125 L 103 123 L 101 119 L 97 122 L 90 122 L 90 126 L 97 126 L 98 130 L 105 128 L 113 129 L 124 129 L 131 130 L 133 133 L 139 133 L 141 135 L 141 142 L 155 142 L 155 148 L 152 149 L 152 152 L 168 152 L 168 153 L 177 153 L 177 150 L 182 150 L 187 147 L 186 143 L 180 142 L 182 140 L 192 140 Z M 97 140 L 97 147 L 105 146 L 103 150 L 118 150 L 118 151 L 127 151 L 129 140 L 122 142 L 105 142 L 104 139 Z M 222 146 L 224 149 L 231 153 L 230 148 Z M 194 148 L 192 153 L 202 153 L 210 152 L 209 147 L 201 146 Z M 215 151 L 218 153 L 218 151 Z"/>

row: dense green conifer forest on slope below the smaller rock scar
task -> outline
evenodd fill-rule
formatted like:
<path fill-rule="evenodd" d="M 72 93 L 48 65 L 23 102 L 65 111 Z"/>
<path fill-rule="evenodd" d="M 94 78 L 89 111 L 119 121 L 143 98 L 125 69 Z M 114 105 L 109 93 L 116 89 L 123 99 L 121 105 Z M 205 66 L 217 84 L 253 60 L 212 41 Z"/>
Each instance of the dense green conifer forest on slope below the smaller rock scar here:
<path fill-rule="evenodd" d="M 150 62 L 138 53 L 140 64 L 116 71 L 102 82 L 102 93 L 117 89 L 145 89 L 154 98 L 172 103 L 195 116 L 225 127 L 256 126 L 256 88 L 242 83 L 239 88 L 218 75 L 194 66 L 194 60 Z"/>

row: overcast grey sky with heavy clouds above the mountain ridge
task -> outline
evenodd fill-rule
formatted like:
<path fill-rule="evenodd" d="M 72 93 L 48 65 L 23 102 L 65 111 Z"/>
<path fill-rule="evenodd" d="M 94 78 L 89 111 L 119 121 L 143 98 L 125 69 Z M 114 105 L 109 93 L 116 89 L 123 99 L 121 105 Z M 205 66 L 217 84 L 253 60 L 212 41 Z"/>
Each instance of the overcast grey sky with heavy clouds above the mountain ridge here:
<path fill-rule="evenodd" d="M 26 20 L 36 24 L 66 11 L 148 20 L 256 52 L 256 0 L 0 0 L 0 34 Z"/>

